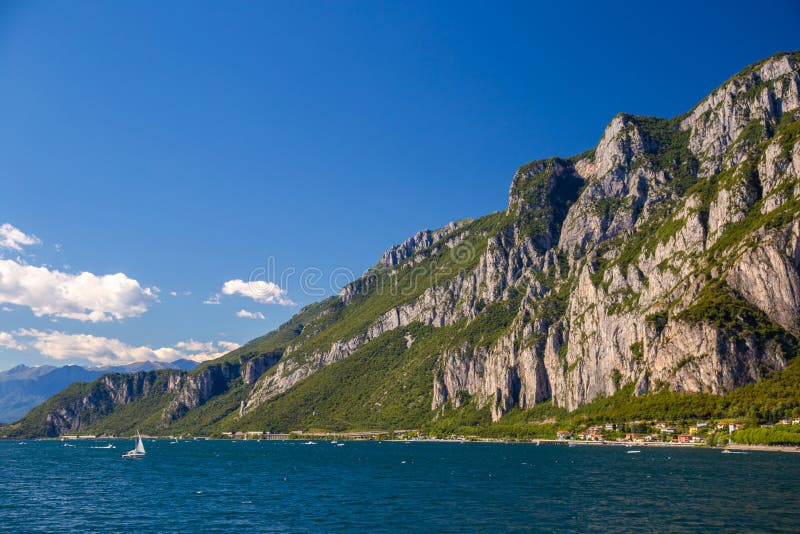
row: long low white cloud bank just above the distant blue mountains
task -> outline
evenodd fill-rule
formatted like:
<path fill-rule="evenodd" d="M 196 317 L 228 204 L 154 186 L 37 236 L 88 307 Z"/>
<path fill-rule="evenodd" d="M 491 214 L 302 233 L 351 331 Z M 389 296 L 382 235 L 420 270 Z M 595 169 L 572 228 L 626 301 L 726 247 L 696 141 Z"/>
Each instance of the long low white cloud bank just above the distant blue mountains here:
<path fill-rule="evenodd" d="M 17 330 L 10 338 L 10 342 L 18 346 L 23 346 L 19 343 L 19 339 L 23 338 L 28 347 L 55 360 L 89 360 L 97 365 L 118 365 L 147 360 L 171 362 L 180 358 L 205 361 L 218 358 L 239 347 L 237 343 L 230 341 L 200 342 L 190 339 L 176 343 L 172 347 L 153 349 L 148 346 L 136 347 L 119 339 L 91 334 L 67 334 L 56 330 L 36 329 Z"/>

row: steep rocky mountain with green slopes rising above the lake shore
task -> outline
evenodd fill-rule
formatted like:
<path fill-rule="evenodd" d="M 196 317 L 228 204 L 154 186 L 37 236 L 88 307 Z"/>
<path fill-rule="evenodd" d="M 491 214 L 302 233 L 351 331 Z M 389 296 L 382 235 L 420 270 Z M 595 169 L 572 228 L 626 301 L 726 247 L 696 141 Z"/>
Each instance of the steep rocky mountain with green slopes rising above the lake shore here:
<path fill-rule="evenodd" d="M 798 119 L 800 53 L 679 117 L 619 114 L 596 148 L 522 166 L 504 212 L 419 232 L 275 332 L 157 373 L 160 397 L 101 379 L 105 411 L 62 394 L 13 431 L 122 409 L 154 432 L 499 421 L 774 376 L 800 336 Z"/>

